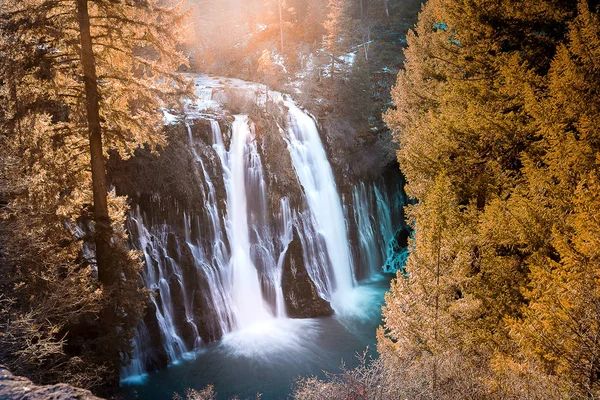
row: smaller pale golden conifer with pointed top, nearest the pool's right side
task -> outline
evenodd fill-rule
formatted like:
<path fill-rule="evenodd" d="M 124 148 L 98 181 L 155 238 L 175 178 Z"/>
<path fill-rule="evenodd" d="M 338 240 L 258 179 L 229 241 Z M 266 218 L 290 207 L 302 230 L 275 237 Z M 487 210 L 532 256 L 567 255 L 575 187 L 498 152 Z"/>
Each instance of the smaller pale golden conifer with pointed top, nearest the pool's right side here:
<path fill-rule="evenodd" d="M 464 363 L 461 337 L 473 310 L 465 286 L 468 213 L 461 208 L 444 172 L 427 197 L 409 207 L 413 250 L 405 275 L 398 274 L 386 295 L 385 331 L 380 329 L 378 341 L 388 369 L 411 377 L 408 381 L 414 386 L 407 385 L 405 393 L 411 398 L 452 398 L 463 385 L 472 385 L 461 381 L 454 365 Z"/>

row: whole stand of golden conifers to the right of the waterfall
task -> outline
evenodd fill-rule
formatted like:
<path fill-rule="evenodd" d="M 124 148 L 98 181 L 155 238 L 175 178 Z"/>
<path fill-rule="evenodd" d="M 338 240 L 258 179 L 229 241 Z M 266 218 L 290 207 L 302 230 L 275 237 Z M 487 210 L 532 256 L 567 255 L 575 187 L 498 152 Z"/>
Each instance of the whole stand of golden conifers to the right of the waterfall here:
<path fill-rule="evenodd" d="M 408 37 L 385 119 L 415 235 L 379 346 L 409 397 L 600 395 L 596 11 L 431 0 Z"/>

